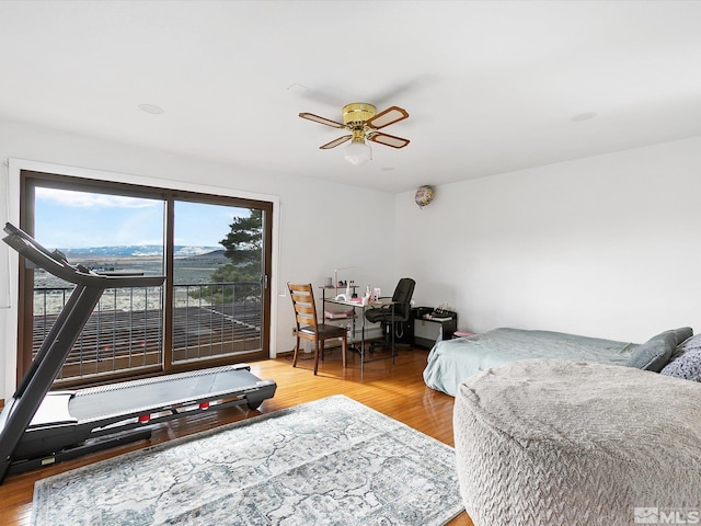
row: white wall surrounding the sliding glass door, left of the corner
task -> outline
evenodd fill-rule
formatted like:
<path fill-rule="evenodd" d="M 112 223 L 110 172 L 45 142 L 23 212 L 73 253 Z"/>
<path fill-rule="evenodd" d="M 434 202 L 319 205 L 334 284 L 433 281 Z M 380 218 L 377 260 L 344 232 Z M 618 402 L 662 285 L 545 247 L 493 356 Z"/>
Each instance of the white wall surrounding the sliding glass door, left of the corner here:
<path fill-rule="evenodd" d="M 31 165 L 47 163 L 58 171 L 83 176 L 275 201 L 279 242 L 274 249 L 276 275 L 272 282 L 273 354 L 294 346 L 292 309 L 285 290 L 288 281 L 322 284 L 324 277 L 333 275 L 334 268 L 353 266 L 343 271 L 343 278 L 381 287 L 392 287 L 397 282 L 397 273 L 392 264 L 388 264 L 393 254 L 387 242 L 393 237 L 394 197 L 391 194 L 0 121 L 0 159 L 8 158 L 19 159 L 13 164 L 20 167 L 28 160 Z M 2 225 L 8 220 L 18 224 L 16 174 L 0 168 L 0 220 Z M 352 220 L 338 206 L 340 195 L 344 203 L 354 204 Z M 359 214 L 363 207 L 371 214 Z M 381 236 L 378 221 L 388 225 Z M 4 243 L 0 244 L 3 245 L 0 249 L 0 278 L 3 279 L 0 295 L 4 296 L 0 297 L 0 398 L 8 399 L 15 385 L 18 258 L 13 251 L 4 249 Z M 9 308 L 7 289 L 12 299 Z"/>

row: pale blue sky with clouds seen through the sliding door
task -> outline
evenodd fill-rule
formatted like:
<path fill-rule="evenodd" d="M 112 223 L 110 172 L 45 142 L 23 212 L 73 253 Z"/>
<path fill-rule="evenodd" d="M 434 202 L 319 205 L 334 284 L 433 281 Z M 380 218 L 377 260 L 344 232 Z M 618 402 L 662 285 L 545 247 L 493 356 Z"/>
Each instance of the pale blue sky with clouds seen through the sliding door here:
<path fill-rule="evenodd" d="M 162 244 L 164 203 L 37 187 L 35 238 L 47 249 Z M 245 208 L 175 204 L 175 244 L 218 247 Z"/>

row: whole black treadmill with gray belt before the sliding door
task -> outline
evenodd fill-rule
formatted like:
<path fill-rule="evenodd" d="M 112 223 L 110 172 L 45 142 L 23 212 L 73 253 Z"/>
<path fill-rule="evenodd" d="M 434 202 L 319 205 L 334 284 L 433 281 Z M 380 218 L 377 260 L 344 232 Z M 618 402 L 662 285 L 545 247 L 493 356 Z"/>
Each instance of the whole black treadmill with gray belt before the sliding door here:
<path fill-rule="evenodd" d="M 246 364 L 50 391 L 105 289 L 158 287 L 165 278 L 96 274 L 69 264 L 60 252 L 48 251 L 9 222 L 4 231 L 5 243 L 76 288 L 0 413 L 0 484 L 8 474 L 146 439 L 153 424 L 193 411 L 239 404 L 255 410 L 275 395 L 275 381 L 261 380 Z"/>

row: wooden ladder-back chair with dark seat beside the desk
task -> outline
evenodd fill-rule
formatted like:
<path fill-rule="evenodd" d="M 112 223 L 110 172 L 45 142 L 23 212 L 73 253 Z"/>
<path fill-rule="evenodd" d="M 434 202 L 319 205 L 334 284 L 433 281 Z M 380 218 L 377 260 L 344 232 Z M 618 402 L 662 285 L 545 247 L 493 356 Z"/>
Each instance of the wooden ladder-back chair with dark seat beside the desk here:
<path fill-rule="evenodd" d="M 319 369 L 320 347 L 323 353 L 324 342 L 332 338 L 341 339 L 341 353 L 343 356 L 343 367 L 346 367 L 346 352 L 348 350 L 348 336 L 345 327 L 332 325 L 330 323 L 319 323 L 317 320 L 317 306 L 314 305 L 314 291 L 312 285 L 288 283 L 289 296 L 292 298 L 295 308 L 295 321 L 297 323 L 297 342 L 295 344 L 295 356 L 292 367 L 297 367 L 297 355 L 299 353 L 300 339 L 309 340 L 314 345 L 314 375 Z"/>

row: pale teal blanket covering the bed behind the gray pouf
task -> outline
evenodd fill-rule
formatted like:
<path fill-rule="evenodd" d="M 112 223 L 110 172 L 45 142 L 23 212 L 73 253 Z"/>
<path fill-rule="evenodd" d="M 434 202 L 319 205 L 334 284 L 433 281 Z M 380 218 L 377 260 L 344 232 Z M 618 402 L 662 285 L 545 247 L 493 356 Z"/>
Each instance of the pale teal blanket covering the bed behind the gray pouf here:
<path fill-rule="evenodd" d="M 495 329 L 483 334 L 438 342 L 428 353 L 424 381 L 451 397 L 467 378 L 499 365 L 531 358 L 561 358 L 625 365 L 637 347 L 630 342 L 549 331 Z"/>

